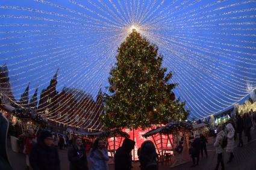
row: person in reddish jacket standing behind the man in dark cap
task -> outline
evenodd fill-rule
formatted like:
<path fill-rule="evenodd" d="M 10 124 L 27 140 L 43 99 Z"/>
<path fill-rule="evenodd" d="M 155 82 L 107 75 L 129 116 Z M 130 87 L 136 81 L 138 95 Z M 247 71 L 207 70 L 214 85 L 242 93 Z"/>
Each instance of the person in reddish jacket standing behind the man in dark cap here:
<path fill-rule="evenodd" d="M 28 129 L 28 135 L 25 137 L 24 147 L 24 153 L 26 154 L 26 169 L 30 169 L 30 152 L 34 143 L 36 143 L 36 135 L 34 135 L 34 129 Z"/>

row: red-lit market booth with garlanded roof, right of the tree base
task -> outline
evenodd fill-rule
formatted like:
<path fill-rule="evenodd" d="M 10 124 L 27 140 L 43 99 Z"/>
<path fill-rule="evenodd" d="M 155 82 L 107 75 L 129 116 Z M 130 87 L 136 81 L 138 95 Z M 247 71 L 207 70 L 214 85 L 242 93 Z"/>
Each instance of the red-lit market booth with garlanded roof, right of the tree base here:
<path fill-rule="evenodd" d="M 193 126 L 187 121 L 173 121 L 166 126 L 157 127 L 142 135 L 145 138 L 152 137 L 155 147 L 158 152 L 158 159 L 161 162 L 175 157 L 175 162 L 171 167 L 186 163 L 184 159 L 184 146 L 186 145 L 188 154 L 189 151 L 189 133 L 192 132 Z M 170 144 L 170 146 L 169 146 Z"/>

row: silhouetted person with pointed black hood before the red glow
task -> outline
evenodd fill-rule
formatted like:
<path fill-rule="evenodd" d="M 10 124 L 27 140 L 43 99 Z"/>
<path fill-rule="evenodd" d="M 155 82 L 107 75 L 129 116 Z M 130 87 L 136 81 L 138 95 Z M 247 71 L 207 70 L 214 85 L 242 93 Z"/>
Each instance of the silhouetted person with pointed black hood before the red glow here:
<path fill-rule="evenodd" d="M 114 169 L 115 170 L 130 170 L 131 169 L 131 156 L 135 142 L 131 139 L 125 138 L 122 147 L 118 148 L 114 155 Z"/>

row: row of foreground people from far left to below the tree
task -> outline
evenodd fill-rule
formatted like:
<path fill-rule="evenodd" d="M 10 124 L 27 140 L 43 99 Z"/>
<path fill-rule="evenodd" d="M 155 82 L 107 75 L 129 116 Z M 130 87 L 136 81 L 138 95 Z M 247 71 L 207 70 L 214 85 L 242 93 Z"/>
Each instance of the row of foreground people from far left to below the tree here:
<path fill-rule="evenodd" d="M 27 169 L 29 166 L 35 170 L 60 170 L 60 158 L 58 155 L 58 145 L 60 145 L 60 136 L 52 135 L 48 130 L 40 132 L 36 140 L 33 129 L 29 130 L 30 135 L 26 139 Z M 56 142 L 58 141 L 58 142 Z M 67 151 L 70 170 L 89 170 L 87 162 L 86 148 L 81 138 L 73 140 Z M 58 145 L 57 145 L 58 143 Z M 115 170 L 130 170 L 132 168 L 132 154 L 134 142 L 125 138 L 122 147 L 119 147 L 114 156 Z M 60 147 L 61 149 L 61 147 Z M 151 141 L 143 142 L 140 147 L 139 160 L 140 169 L 158 170 L 157 152 L 155 145 Z M 91 163 L 91 170 L 108 170 L 108 151 L 106 142 L 97 138 L 93 142 L 88 155 L 88 161 Z"/>

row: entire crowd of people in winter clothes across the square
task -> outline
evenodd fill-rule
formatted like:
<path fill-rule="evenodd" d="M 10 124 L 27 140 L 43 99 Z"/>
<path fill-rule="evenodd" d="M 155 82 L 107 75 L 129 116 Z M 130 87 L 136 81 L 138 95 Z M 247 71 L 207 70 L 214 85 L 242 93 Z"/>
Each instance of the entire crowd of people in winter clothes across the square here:
<path fill-rule="evenodd" d="M 236 115 L 236 119 L 225 124 L 217 126 L 216 140 L 213 146 L 216 148 L 217 164 L 225 169 L 223 162 L 223 152 L 229 155 L 228 162 L 234 159 L 234 147 L 236 136 L 238 136 L 237 147 L 243 147 L 242 134 L 245 133 L 247 141 L 251 141 L 251 127 L 256 126 L 256 115 L 254 112 L 244 114 L 243 117 Z M 26 155 L 27 169 L 60 169 L 60 158 L 58 149 L 68 148 L 67 157 L 69 160 L 69 169 L 89 170 L 87 162 L 87 149 L 82 138 L 75 138 L 72 142 L 67 136 L 54 134 L 47 130 L 42 130 L 38 137 L 34 134 L 33 129 L 28 129 L 23 153 Z M 189 153 L 192 156 L 193 165 L 199 165 L 199 157 L 208 157 L 207 138 L 204 135 L 195 135 L 190 142 Z M 125 138 L 122 147 L 119 147 L 114 156 L 115 170 L 130 170 L 132 168 L 131 151 L 134 149 L 135 142 Z M 138 150 L 140 169 L 157 170 L 158 154 L 155 145 L 151 141 L 145 141 Z M 92 170 L 108 170 L 108 151 L 106 142 L 97 138 L 90 148 L 88 161 L 91 163 Z"/>

